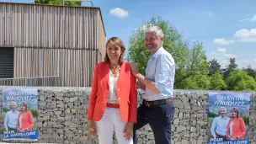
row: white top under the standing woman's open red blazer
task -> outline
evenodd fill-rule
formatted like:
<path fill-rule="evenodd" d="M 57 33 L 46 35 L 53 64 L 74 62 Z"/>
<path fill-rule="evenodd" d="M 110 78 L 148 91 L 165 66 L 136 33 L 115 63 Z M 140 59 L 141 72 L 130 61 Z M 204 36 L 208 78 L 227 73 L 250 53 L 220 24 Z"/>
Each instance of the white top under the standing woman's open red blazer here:
<path fill-rule="evenodd" d="M 118 77 L 119 73 L 117 74 L 117 77 L 115 77 L 111 70 L 109 70 L 109 104 L 119 104 L 116 93 L 116 83 Z"/>

